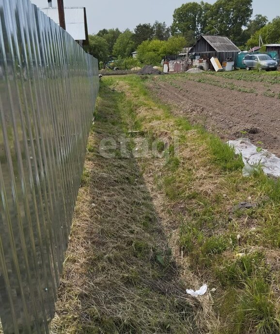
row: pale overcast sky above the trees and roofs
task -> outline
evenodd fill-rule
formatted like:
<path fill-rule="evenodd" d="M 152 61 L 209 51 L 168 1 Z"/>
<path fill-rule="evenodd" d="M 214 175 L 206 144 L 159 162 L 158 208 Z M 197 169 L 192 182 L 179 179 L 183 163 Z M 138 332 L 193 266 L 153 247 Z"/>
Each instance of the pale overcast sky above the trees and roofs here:
<path fill-rule="evenodd" d="M 230 1 L 230 0 L 229 0 Z M 38 7 L 47 7 L 47 0 L 31 0 Z M 65 7 L 86 7 L 89 33 L 103 28 L 133 30 L 139 23 L 154 23 L 156 20 L 172 23 L 174 9 L 190 1 L 172 0 L 64 0 Z M 200 2 L 200 1 L 198 1 Z M 215 0 L 206 0 L 214 3 Z M 57 0 L 53 0 L 53 7 Z M 253 0 L 253 15 L 266 15 L 269 20 L 280 15 L 280 0 Z"/>

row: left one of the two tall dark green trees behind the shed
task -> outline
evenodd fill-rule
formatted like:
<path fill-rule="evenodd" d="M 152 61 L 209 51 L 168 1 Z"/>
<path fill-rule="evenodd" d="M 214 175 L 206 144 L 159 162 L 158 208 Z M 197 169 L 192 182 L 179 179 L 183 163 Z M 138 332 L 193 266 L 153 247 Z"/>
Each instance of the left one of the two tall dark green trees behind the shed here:
<path fill-rule="evenodd" d="M 188 2 L 175 9 L 173 23 L 171 25 L 172 35 L 179 33 L 189 38 L 191 34 L 193 39 L 203 33 L 204 20 L 202 4 L 205 6 L 204 2 Z M 211 6 L 209 4 L 207 5 Z"/>

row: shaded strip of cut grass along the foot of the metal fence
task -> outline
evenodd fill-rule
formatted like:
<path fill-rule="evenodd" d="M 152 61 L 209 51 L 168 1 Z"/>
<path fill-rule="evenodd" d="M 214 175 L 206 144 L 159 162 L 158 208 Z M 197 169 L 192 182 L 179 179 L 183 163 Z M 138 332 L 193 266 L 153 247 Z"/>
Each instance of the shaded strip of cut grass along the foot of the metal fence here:
<path fill-rule="evenodd" d="M 98 151 L 102 138 L 130 129 L 123 103 L 124 94 L 101 88 L 52 333 L 208 333 L 211 295 L 186 296 L 202 282 L 171 250 L 149 175 L 133 157 Z"/>

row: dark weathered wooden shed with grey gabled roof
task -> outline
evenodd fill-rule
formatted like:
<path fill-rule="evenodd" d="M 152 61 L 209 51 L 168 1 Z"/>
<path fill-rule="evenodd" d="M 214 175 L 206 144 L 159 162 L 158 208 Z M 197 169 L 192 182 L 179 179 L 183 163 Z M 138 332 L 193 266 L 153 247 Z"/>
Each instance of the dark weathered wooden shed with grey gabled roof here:
<path fill-rule="evenodd" d="M 205 55 L 209 59 L 217 57 L 219 62 L 222 63 L 230 57 L 235 62 L 237 54 L 241 50 L 226 36 L 201 35 L 188 51 L 189 54 L 194 52 L 196 55 Z"/>

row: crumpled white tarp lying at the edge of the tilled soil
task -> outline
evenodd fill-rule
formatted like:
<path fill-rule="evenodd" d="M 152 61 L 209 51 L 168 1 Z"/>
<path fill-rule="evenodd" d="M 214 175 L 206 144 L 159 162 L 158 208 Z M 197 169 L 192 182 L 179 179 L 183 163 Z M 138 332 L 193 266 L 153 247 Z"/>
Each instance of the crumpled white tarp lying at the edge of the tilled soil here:
<path fill-rule="evenodd" d="M 280 158 L 268 150 L 258 150 L 248 138 L 240 138 L 228 141 L 228 145 L 234 147 L 235 153 L 242 155 L 245 167 L 243 175 L 249 176 L 257 165 L 260 165 L 264 173 L 274 177 L 280 177 Z"/>

